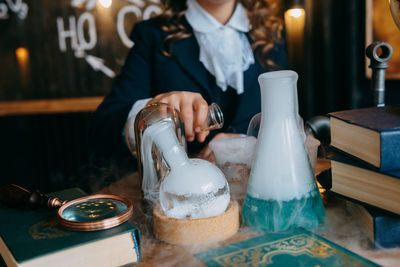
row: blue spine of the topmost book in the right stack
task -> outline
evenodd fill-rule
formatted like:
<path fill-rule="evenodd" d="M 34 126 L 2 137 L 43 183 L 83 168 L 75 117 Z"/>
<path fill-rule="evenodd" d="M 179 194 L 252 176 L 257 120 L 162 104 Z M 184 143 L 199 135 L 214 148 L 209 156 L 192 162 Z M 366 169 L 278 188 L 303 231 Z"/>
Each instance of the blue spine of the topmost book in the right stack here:
<path fill-rule="evenodd" d="M 381 132 L 381 166 L 380 171 L 400 169 L 400 131 Z"/>

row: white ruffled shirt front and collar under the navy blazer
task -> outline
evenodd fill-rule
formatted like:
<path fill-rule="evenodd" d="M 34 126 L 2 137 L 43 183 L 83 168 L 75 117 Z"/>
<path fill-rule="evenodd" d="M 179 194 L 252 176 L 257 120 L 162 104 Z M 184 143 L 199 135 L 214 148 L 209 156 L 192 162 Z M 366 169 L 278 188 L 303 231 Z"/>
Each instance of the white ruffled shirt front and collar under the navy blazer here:
<path fill-rule="evenodd" d="M 207 13 L 196 0 L 187 0 L 185 17 L 193 28 L 200 47 L 199 60 L 214 75 L 217 85 L 243 93 L 243 72 L 254 63 L 246 32 L 250 29 L 244 7 L 238 3 L 229 21 L 223 25 Z"/>

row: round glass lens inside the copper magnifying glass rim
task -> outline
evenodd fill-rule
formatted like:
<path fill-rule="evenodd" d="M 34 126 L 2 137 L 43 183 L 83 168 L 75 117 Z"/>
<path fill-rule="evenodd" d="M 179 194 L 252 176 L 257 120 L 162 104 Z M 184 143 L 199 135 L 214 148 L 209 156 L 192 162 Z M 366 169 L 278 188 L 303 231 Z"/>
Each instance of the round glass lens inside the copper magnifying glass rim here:
<path fill-rule="evenodd" d="M 92 222 L 118 216 L 126 209 L 126 203 L 121 200 L 97 198 L 70 205 L 61 216 L 70 222 Z"/>

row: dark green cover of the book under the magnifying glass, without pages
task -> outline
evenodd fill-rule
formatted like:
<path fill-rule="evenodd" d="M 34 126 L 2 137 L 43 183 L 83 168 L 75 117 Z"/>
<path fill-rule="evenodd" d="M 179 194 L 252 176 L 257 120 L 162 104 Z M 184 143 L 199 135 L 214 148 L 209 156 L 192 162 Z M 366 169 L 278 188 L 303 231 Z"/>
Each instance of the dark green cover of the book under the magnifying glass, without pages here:
<path fill-rule="evenodd" d="M 85 196 L 86 193 L 79 188 L 72 188 L 49 195 L 72 200 Z M 56 212 L 57 210 L 9 208 L 0 204 L 0 237 L 18 263 L 128 232 L 132 234 L 135 244 L 132 253 L 136 253 L 139 259 L 139 230 L 131 223 L 126 222 L 101 231 L 70 231 L 58 224 Z"/>

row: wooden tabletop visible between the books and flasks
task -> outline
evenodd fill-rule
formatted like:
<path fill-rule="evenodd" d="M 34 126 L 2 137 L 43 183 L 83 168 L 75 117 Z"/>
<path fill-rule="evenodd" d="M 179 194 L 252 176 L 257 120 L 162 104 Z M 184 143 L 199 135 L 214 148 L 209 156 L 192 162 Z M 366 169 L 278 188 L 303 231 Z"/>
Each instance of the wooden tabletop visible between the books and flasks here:
<path fill-rule="evenodd" d="M 318 159 L 315 173 L 328 169 L 330 162 Z M 241 227 L 239 232 L 224 242 L 179 247 L 158 241 L 152 234 L 151 211 L 141 205 L 140 183 L 137 173 L 132 173 L 101 190 L 130 198 L 134 202 L 134 215 L 130 220 L 141 232 L 142 258 L 137 266 L 202 266 L 195 253 L 228 243 L 256 236 L 256 233 Z M 329 197 L 322 192 L 326 217 L 324 223 L 313 232 L 384 266 L 400 266 L 400 248 L 376 250 L 371 248 L 367 236 L 358 227 L 358 218 L 347 213 L 343 200 Z"/>

